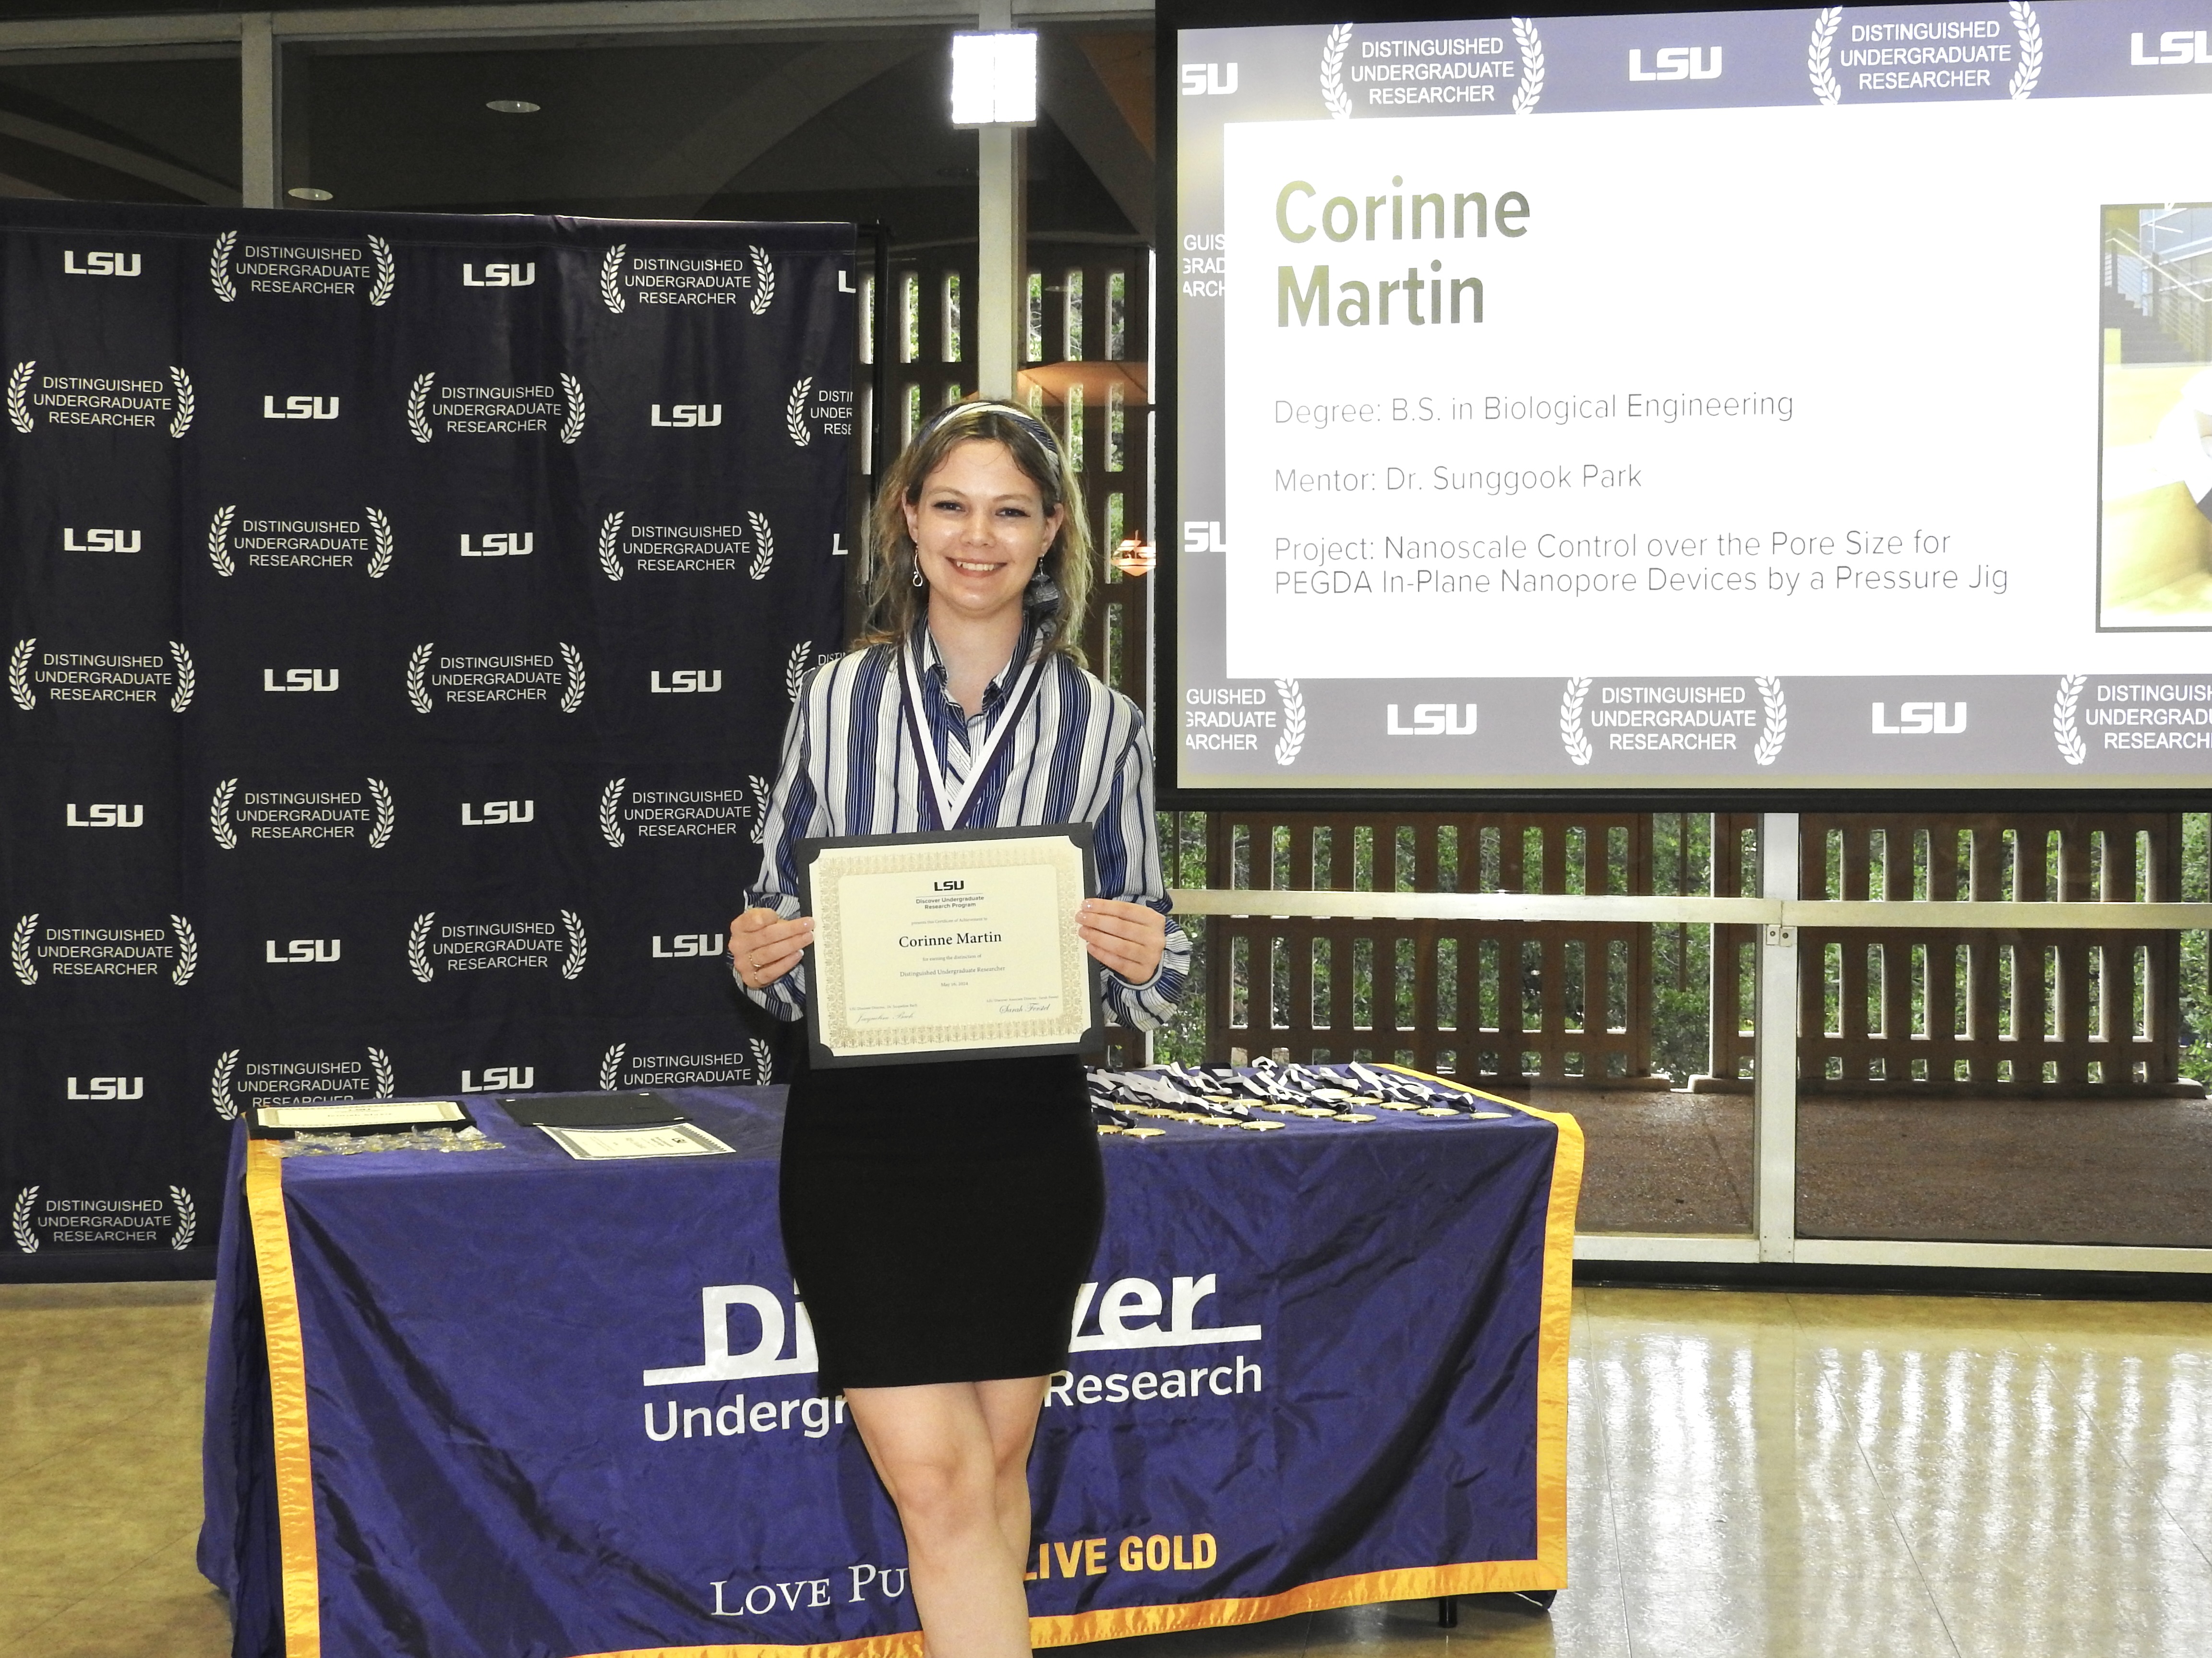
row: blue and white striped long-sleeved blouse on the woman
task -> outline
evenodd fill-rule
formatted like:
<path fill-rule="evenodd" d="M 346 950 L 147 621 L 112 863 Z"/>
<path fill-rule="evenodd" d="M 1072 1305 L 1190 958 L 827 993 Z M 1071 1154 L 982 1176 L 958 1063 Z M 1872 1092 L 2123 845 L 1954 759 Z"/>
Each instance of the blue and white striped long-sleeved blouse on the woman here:
<path fill-rule="evenodd" d="M 916 630 L 922 657 L 922 703 L 929 741 L 945 783 L 958 789 L 973 754 L 987 752 L 1006 714 L 1015 665 L 1035 650 L 1024 628 L 1013 659 L 984 690 L 982 710 L 967 716 L 947 690 L 945 663 L 929 628 Z M 975 785 L 967 822 L 1015 829 L 1091 822 L 1099 893 L 1148 904 L 1168 915 L 1152 818 L 1152 749 L 1144 714 L 1121 692 L 1051 652 L 1037 690 L 1018 710 L 1020 725 L 1000 745 Z M 933 827 L 922 820 L 929 787 L 907 723 L 900 718 L 898 652 L 869 646 L 816 668 L 783 730 L 783 765 L 761 833 L 761 873 L 745 904 L 799 915 L 799 842 L 818 836 L 889 836 Z M 1102 968 L 1106 1012 L 1115 1024 L 1150 1030 L 1168 1021 L 1190 975 L 1190 940 L 1168 920 L 1168 946 L 1150 984 L 1128 984 Z M 799 1019 L 805 968 L 792 968 L 765 990 L 745 990 L 779 1019 Z"/>

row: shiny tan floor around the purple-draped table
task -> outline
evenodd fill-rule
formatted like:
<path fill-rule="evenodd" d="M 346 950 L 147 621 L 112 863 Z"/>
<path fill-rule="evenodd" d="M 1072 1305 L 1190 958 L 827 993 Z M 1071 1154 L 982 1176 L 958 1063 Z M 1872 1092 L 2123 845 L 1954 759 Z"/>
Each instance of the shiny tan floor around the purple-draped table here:
<path fill-rule="evenodd" d="M 0 1658 L 219 1658 L 204 1289 L 0 1289 Z M 2212 1651 L 2212 1304 L 1575 1298 L 1571 1572 L 1113 1658 Z M 1144 1649 L 1141 1654 L 1133 1649 Z M 495 1656 L 487 1656 L 495 1658 Z"/>

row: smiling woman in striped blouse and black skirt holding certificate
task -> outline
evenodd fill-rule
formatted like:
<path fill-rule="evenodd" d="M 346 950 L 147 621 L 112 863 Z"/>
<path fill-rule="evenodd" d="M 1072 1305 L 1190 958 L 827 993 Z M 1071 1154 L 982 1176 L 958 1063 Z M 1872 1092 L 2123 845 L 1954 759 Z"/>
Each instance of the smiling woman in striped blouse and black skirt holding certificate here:
<path fill-rule="evenodd" d="M 1181 997 L 1144 716 L 1075 646 L 1091 537 L 1071 502 L 1060 442 L 1004 402 L 940 411 L 889 469 L 867 626 L 799 694 L 754 906 L 730 926 L 745 993 L 776 1017 L 807 995 L 801 842 L 929 829 L 1088 825 L 1104 895 L 1075 933 L 1106 1006 L 1150 1028 Z M 1029 1448 L 1106 1203 L 1082 1061 L 805 1054 L 781 1218 L 821 1386 L 843 1388 L 898 1508 L 931 1649 L 1018 1658 Z M 978 1273 L 989 1295 L 969 1291 Z"/>

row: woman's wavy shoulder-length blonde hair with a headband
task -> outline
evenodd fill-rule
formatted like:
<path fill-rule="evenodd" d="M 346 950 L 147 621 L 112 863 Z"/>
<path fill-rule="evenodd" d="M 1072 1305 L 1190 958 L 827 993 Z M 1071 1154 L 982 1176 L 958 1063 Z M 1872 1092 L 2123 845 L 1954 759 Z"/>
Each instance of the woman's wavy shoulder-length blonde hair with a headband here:
<path fill-rule="evenodd" d="M 1044 581 L 1031 586 L 1024 604 L 1048 610 L 1044 643 L 1048 650 L 1084 663 L 1084 608 L 1091 604 L 1091 526 L 1084 522 L 1082 493 L 1068 475 L 1068 458 L 1051 427 L 1006 402 L 956 402 L 938 411 L 914 433 L 914 442 L 891 462 L 876 493 L 876 568 L 867 581 L 867 615 L 860 621 L 863 646 L 898 646 L 914 632 L 929 606 L 929 588 L 914 586 L 914 537 L 907 535 L 907 506 L 918 506 L 929 475 L 953 449 L 967 442 L 1004 444 L 1013 464 L 1037 486 L 1044 513 L 1064 511 L 1060 535 L 1044 548 L 1037 564 Z"/>

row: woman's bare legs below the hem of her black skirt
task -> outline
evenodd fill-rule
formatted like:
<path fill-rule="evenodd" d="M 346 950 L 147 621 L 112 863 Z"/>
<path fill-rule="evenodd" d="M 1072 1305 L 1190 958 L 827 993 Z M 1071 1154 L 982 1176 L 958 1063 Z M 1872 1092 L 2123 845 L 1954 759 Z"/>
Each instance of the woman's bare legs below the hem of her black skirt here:
<path fill-rule="evenodd" d="M 1029 1441 L 1044 1377 L 847 1388 L 845 1402 L 907 1532 L 931 1658 L 1026 1658 Z"/>

